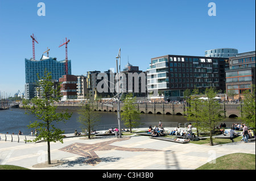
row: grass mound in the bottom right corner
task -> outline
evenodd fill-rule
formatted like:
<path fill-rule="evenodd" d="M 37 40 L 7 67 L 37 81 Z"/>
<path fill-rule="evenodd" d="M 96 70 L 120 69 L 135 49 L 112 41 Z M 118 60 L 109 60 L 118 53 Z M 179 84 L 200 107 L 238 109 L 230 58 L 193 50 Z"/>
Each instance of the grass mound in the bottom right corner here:
<path fill-rule="evenodd" d="M 255 170 L 255 154 L 233 153 L 219 157 L 196 170 Z"/>

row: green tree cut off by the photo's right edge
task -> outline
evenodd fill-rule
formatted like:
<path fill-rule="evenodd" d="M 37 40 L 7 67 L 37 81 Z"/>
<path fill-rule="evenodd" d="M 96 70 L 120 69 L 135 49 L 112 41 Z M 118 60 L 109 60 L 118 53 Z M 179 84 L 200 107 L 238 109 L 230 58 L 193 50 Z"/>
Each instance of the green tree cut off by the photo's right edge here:
<path fill-rule="evenodd" d="M 255 131 L 255 85 L 252 85 L 251 91 L 247 90 L 244 94 L 241 117 L 245 124 Z"/>

